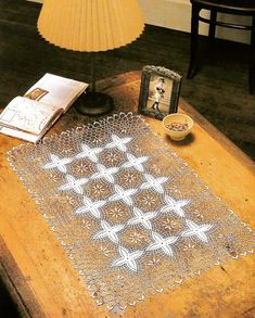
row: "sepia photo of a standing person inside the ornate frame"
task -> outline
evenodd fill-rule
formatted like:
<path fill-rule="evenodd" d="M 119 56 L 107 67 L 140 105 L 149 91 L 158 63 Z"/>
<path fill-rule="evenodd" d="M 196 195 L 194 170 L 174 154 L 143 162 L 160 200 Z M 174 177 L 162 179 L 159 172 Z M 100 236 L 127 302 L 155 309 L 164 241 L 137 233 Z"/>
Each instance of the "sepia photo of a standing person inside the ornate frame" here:
<path fill-rule="evenodd" d="M 155 117 L 168 114 L 171 90 L 171 79 L 153 74 L 149 84 L 148 112 L 154 112 Z"/>

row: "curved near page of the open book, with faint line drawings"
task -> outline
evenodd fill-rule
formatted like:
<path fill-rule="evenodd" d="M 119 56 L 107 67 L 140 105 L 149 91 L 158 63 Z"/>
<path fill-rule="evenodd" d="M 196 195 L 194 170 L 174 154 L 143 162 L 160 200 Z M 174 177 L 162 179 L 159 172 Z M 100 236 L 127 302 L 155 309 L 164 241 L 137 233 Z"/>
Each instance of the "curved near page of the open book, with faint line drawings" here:
<path fill-rule="evenodd" d="M 16 97 L 1 113 L 0 125 L 39 135 L 58 113 L 60 110 L 56 106 Z"/>

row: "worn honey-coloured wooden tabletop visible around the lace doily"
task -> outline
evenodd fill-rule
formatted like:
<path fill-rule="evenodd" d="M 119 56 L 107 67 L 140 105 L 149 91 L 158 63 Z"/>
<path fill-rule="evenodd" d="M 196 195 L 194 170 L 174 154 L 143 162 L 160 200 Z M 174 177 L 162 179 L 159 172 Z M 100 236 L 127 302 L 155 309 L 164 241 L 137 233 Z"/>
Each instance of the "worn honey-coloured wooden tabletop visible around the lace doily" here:
<path fill-rule="evenodd" d="M 140 72 L 103 80 L 99 87 L 112 94 L 117 110 L 137 111 Z M 195 122 L 184 141 L 170 141 L 161 122 L 146 122 L 216 195 L 255 229 L 253 162 L 183 100 L 179 110 Z M 80 118 L 73 109 L 52 130 L 69 128 Z M 81 122 L 87 120 L 82 117 Z M 112 317 L 105 308 L 95 306 L 87 285 L 10 168 L 5 152 L 20 143 L 0 136 L 0 275 L 20 313 L 24 317 Z M 255 255 L 248 254 L 127 308 L 125 317 L 254 317 L 254 284 Z"/>

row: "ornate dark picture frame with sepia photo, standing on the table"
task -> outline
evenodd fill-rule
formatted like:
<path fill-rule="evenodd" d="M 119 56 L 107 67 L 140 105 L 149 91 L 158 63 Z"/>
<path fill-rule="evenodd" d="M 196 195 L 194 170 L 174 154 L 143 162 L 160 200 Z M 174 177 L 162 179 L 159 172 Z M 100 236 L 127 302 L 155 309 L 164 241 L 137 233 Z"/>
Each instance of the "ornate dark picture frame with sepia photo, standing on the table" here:
<path fill-rule="evenodd" d="M 176 113 L 180 94 L 181 76 L 162 66 L 142 68 L 139 113 L 162 119 Z"/>

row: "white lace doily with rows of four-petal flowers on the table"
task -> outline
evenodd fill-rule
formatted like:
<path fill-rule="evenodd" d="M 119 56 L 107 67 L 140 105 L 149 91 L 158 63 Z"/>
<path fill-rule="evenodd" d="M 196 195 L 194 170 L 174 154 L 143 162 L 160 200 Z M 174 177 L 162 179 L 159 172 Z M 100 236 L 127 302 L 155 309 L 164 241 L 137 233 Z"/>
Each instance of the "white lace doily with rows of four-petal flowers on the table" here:
<path fill-rule="evenodd" d="M 138 115 L 14 148 L 9 161 L 109 309 L 253 252 L 252 229 Z"/>

